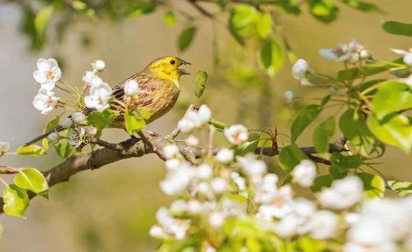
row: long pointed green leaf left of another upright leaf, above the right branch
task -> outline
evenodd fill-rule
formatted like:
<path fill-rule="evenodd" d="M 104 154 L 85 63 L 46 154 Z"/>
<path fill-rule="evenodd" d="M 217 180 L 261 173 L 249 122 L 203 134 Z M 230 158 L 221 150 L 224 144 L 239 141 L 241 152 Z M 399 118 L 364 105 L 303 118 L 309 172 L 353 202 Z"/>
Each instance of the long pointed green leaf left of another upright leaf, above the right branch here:
<path fill-rule="evenodd" d="M 292 135 L 293 142 L 295 142 L 297 137 L 304 132 L 305 128 L 314 121 L 319 113 L 321 113 L 321 108 L 316 104 L 311 104 L 301 110 L 290 128 L 290 134 Z"/>

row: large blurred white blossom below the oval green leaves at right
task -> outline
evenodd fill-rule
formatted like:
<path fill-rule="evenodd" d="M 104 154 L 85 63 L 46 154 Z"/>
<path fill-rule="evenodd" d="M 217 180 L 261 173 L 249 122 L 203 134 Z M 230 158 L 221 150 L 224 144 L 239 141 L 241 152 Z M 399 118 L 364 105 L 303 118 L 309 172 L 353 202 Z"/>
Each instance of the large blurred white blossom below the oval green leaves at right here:
<path fill-rule="evenodd" d="M 344 209 L 358 203 L 362 194 L 363 182 L 358 176 L 351 175 L 345 179 L 333 181 L 330 188 L 322 190 L 318 199 L 325 207 Z"/>

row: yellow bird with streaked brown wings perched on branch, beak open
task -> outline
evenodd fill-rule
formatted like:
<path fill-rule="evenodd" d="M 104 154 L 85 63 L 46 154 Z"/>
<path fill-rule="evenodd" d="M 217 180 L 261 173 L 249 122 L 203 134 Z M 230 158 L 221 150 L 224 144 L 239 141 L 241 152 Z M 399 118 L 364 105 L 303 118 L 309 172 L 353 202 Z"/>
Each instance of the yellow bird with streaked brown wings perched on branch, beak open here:
<path fill-rule="evenodd" d="M 117 100 L 124 100 L 124 85 L 128 80 L 136 80 L 139 84 L 137 106 L 150 112 L 150 118 L 146 120 L 146 124 L 149 124 L 155 121 L 155 119 L 165 115 L 165 113 L 168 113 L 174 104 L 176 104 L 180 93 L 179 79 L 182 75 L 190 74 L 185 69 L 179 69 L 181 65 L 191 64 L 173 56 L 157 58 L 150 62 L 150 64 L 139 73 L 117 84 L 117 86 L 113 88 L 113 96 Z M 116 110 L 114 107 L 112 107 L 112 109 Z M 82 113 L 87 116 L 93 111 L 95 111 L 94 108 L 84 108 Z M 124 128 L 124 116 L 119 114 L 113 122 L 108 125 L 108 128 Z M 32 141 L 27 142 L 25 146 L 34 144 L 49 134 L 62 130 L 65 130 L 65 128 L 59 125 Z"/>

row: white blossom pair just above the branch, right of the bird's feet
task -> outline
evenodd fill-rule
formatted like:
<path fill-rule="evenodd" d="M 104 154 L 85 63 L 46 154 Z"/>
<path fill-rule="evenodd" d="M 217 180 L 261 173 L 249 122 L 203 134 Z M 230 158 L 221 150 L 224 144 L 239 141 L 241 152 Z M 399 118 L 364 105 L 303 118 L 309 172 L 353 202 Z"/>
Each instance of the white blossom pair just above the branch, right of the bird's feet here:
<path fill-rule="evenodd" d="M 209 107 L 203 104 L 199 111 L 187 111 L 185 116 L 179 121 L 177 127 L 183 132 L 190 132 L 194 128 L 198 128 L 209 122 L 211 111 Z"/>

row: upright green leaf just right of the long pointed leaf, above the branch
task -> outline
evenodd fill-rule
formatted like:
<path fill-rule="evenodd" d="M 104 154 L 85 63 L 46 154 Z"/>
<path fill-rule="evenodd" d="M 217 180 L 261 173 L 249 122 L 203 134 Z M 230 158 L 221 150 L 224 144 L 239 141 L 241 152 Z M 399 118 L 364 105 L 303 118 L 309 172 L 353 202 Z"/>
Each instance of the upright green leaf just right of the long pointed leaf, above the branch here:
<path fill-rule="evenodd" d="M 316 148 L 319 154 L 322 154 L 324 157 L 329 151 L 329 141 L 330 137 L 334 135 L 335 131 L 335 122 L 334 118 L 330 116 L 326 119 L 325 122 L 321 123 L 316 130 L 314 130 L 313 143 L 314 148 Z"/>

